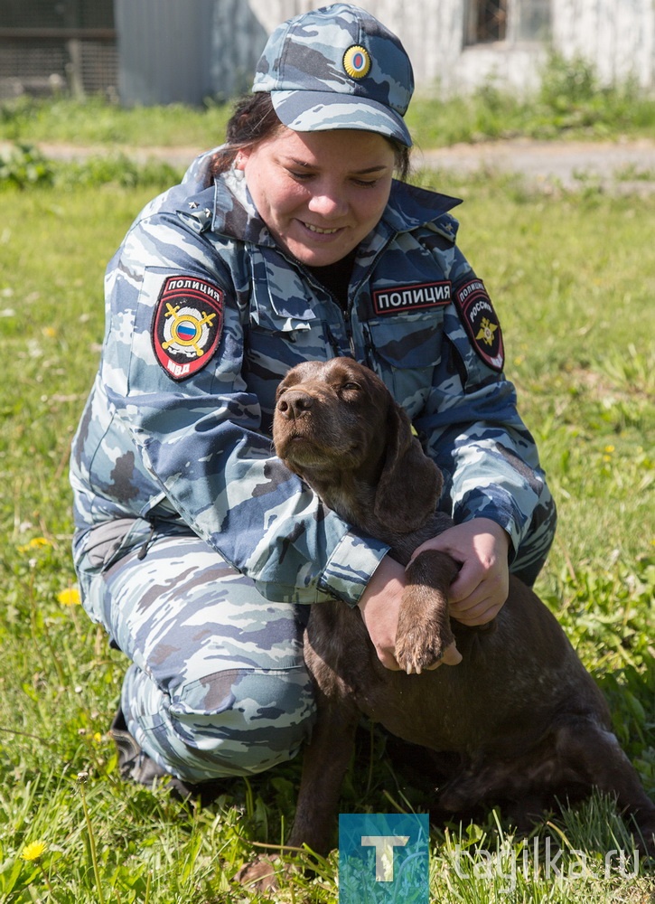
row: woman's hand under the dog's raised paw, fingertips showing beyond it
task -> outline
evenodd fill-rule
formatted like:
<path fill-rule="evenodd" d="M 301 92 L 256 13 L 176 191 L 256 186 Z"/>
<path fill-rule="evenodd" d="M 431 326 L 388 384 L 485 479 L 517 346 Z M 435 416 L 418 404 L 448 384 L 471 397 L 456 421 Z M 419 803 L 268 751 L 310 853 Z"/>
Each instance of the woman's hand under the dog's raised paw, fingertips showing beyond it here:
<path fill-rule="evenodd" d="M 396 634 L 404 589 L 405 569 L 390 556 L 385 556 L 357 604 L 380 663 L 392 672 L 400 671 L 396 660 Z M 456 665 L 461 661 L 462 655 L 452 644 L 443 658 L 429 668 L 436 669 L 442 664 Z"/>

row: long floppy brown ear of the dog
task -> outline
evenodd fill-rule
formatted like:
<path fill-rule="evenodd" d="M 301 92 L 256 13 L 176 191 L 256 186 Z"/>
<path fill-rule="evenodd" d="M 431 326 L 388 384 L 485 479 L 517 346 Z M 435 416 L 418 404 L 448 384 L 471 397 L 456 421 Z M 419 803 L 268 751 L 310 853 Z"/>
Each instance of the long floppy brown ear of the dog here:
<path fill-rule="evenodd" d="M 444 481 L 441 471 L 412 433 L 407 414 L 391 399 L 386 449 L 374 513 L 398 533 L 415 531 L 435 513 Z"/>

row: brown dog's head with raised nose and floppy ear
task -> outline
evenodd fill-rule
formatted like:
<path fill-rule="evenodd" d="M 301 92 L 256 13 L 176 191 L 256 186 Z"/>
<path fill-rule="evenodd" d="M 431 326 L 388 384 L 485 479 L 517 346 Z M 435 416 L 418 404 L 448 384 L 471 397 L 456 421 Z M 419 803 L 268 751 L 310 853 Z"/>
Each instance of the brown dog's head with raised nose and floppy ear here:
<path fill-rule="evenodd" d="M 407 414 L 379 378 L 351 358 L 305 362 L 280 382 L 276 454 L 325 497 L 327 487 L 375 487 L 374 514 L 398 532 L 435 512 L 441 473 L 413 436 Z"/>

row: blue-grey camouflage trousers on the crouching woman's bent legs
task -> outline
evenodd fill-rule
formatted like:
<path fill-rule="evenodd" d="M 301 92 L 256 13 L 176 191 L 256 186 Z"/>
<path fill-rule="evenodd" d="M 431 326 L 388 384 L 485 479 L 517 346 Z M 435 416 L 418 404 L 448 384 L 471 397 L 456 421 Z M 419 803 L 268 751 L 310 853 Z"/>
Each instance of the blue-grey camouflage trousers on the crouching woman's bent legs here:
<path fill-rule="evenodd" d="M 546 560 L 555 523 L 546 492 L 511 563 L 526 583 Z M 86 533 L 80 547 L 84 607 L 131 660 L 121 706 L 145 753 L 194 783 L 295 757 L 314 718 L 302 646 L 307 607 L 264 598 L 179 528 L 152 532 L 124 519 Z"/>

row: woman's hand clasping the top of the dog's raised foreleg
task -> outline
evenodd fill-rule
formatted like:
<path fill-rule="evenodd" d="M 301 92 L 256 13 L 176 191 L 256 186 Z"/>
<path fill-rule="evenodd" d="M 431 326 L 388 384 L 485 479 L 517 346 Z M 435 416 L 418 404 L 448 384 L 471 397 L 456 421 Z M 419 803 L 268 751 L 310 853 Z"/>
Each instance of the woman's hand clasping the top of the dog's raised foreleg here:
<path fill-rule="evenodd" d="M 486 625 L 501 611 L 510 586 L 507 553 L 510 537 L 489 518 L 455 524 L 417 547 L 447 552 L 462 563 L 450 586 L 450 614 L 463 625 Z"/>

